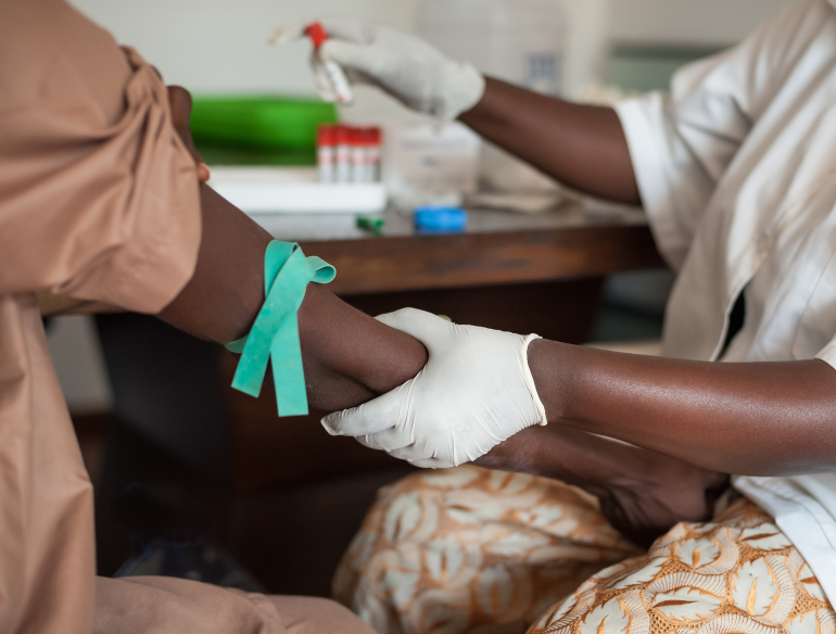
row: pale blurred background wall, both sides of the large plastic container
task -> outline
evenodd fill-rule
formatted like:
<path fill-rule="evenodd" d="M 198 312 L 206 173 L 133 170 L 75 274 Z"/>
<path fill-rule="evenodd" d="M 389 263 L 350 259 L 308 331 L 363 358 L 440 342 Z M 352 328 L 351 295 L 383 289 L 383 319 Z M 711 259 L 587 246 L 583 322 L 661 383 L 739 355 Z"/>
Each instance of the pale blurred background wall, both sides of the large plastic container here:
<path fill-rule="evenodd" d="M 195 92 L 313 94 L 308 45 L 270 47 L 274 26 L 352 16 L 411 30 L 420 0 L 71 0 Z M 583 3 L 584 0 L 570 0 Z M 619 42 L 727 45 L 789 0 L 613 0 Z"/>

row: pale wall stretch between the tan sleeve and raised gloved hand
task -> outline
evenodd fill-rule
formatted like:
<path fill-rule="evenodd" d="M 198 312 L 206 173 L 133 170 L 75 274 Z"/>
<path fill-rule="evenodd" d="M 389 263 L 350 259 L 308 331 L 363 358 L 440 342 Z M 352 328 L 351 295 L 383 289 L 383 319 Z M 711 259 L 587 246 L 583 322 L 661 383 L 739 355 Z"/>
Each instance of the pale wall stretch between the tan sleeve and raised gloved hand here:
<path fill-rule="evenodd" d="M 71 0 L 137 48 L 165 80 L 195 92 L 314 94 L 309 46 L 270 47 L 273 28 L 353 16 L 411 29 L 418 0 Z"/>

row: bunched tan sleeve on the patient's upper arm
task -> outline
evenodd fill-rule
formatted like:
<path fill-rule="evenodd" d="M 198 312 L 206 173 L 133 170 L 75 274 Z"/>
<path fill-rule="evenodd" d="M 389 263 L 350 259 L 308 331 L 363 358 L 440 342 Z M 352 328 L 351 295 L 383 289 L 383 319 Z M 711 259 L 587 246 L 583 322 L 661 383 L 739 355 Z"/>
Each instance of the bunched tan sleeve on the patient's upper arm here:
<path fill-rule="evenodd" d="M 155 313 L 200 245 L 165 85 L 63 0 L 0 2 L 0 294 Z"/>

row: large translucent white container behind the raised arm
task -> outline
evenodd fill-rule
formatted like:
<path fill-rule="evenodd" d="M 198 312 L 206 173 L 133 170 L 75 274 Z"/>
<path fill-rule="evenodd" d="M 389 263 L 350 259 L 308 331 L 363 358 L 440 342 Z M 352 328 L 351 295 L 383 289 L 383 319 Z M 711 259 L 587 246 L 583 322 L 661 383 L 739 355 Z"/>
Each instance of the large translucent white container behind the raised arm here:
<path fill-rule="evenodd" d="M 421 37 L 485 75 L 536 92 L 578 97 L 603 77 L 610 0 L 423 0 Z M 554 182 L 485 144 L 480 176 L 495 190 L 544 191 Z"/>

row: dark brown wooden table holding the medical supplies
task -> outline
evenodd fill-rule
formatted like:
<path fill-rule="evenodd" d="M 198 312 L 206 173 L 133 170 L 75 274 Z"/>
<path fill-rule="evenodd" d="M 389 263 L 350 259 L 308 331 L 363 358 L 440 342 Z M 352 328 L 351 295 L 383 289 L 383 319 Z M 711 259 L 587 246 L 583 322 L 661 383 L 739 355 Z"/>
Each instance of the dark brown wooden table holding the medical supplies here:
<path fill-rule="evenodd" d="M 353 216 L 253 216 L 337 267 L 339 295 L 558 281 L 662 266 L 641 210 L 597 201 L 540 215 L 471 210 L 461 233 L 419 234 L 385 213 L 381 237 Z"/>

